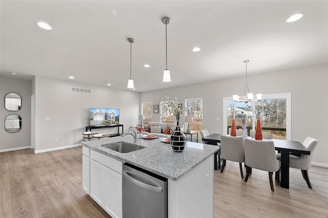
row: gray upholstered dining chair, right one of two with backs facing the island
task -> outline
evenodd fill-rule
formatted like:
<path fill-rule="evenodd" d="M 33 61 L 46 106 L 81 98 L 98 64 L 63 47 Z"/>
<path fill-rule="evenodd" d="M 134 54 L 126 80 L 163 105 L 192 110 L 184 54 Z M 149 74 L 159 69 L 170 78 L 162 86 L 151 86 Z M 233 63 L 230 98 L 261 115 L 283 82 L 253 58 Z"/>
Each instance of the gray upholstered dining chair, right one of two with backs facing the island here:
<path fill-rule="evenodd" d="M 252 168 L 269 172 L 271 190 L 273 187 L 273 172 L 279 173 L 280 161 L 276 158 L 275 146 L 273 141 L 262 141 L 245 138 L 245 165 L 247 173 L 245 182 L 251 174 Z"/>

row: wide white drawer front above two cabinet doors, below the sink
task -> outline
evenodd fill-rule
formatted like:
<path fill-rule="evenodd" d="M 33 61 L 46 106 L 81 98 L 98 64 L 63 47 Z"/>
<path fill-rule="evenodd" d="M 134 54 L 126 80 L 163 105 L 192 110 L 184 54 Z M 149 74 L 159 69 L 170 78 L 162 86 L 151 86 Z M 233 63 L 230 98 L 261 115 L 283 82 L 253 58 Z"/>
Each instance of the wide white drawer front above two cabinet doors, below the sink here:
<path fill-rule="evenodd" d="M 100 164 L 103 164 L 104 166 L 112 169 L 116 173 L 122 175 L 122 162 L 119 160 L 116 160 L 112 157 L 106 156 L 104 154 L 100 154 L 99 152 L 90 151 L 90 158 L 94 161 L 97 161 Z"/>

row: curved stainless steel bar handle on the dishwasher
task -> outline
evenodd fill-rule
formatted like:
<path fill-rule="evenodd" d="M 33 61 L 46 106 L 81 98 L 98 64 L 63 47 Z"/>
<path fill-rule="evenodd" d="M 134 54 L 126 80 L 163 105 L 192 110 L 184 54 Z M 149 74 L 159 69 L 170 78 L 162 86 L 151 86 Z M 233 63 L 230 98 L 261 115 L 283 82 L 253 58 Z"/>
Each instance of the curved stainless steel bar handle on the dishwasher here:
<path fill-rule="evenodd" d="M 126 171 L 126 170 L 123 171 L 123 176 L 125 176 L 129 181 L 133 182 L 134 184 L 136 184 L 142 188 L 148 189 L 150 191 L 155 191 L 157 193 L 162 193 L 162 188 L 158 187 L 158 185 L 154 181 L 152 181 L 151 179 L 149 179 L 145 176 L 142 176 L 138 173 L 134 173 L 131 171 Z M 149 184 L 141 182 L 139 180 L 149 181 L 148 182 Z M 152 183 L 156 184 L 157 187 L 152 185 Z"/>

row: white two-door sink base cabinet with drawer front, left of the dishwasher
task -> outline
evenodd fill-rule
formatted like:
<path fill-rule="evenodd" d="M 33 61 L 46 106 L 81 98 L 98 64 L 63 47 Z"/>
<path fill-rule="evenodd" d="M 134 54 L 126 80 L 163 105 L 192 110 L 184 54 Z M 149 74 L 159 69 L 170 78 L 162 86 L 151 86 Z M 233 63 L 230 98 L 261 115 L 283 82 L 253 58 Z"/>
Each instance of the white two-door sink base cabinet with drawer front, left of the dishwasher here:
<path fill-rule="evenodd" d="M 122 162 L 90 151 L 90 196 L 112 217 L 122 217 Z"/>

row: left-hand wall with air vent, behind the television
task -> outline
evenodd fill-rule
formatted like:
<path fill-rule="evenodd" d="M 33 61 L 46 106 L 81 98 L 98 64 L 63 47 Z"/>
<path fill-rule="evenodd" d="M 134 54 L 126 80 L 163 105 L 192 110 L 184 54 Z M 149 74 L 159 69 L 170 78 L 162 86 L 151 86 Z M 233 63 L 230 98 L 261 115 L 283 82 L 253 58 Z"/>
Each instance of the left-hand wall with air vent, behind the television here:
<path fill-rule="evenodd" d="M 119 108 L 125 131 L 138 123 L 139 92 L 39 76 L 34 82 L 36 153 L 79 144 L 90 125 L 90 108 Z M 92 89 L 92 94 L 71 92 L 71 86 Z"/>

